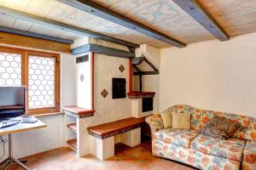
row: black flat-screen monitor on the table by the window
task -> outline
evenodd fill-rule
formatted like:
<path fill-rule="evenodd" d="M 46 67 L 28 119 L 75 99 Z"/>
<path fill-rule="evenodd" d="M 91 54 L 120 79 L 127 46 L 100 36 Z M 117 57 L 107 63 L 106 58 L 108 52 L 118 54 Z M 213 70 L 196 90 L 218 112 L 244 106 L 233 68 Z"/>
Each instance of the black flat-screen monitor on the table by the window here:
<path fill-rule="evenodd" d="M 26 87 L 0 87 L 0 121 L 26 113 Z"/>

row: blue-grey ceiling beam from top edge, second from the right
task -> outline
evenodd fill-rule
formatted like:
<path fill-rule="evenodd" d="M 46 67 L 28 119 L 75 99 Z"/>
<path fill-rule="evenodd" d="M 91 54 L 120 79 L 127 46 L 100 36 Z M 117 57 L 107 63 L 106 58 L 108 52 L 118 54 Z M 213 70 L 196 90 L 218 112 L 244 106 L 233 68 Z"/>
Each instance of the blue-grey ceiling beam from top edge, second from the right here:
<path fill-rule="evenodd" d="M 155 31 L 148 26 L 144 26 L 135 20 L 131 20 L 124 15 L 118 14 L 109 8 L 102 7 L 101 5 L 94 3 L 90 0 L 57 0 L 61 3 L 66 3 L 73 8 L 78 8 L 86 13 L 96 15 L 104 20 L 109 20 L 120 26 L 125 26 L 133 31 L 140 32 L 148 37 L 152 37 L 161 42 L 166 42 L 178 48 L 186 47 L 186 44 L 179 42 L 176 39 L 166 36 L 165 34 Z"/>

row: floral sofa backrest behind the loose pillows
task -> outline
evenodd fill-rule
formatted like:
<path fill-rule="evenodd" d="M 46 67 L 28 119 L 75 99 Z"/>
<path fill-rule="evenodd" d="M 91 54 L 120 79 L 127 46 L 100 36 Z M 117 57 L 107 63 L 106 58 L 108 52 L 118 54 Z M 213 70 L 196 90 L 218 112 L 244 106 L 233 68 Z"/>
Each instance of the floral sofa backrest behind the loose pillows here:
<path fill-rule="evenodd" d="M 191 115 L 191 129 L 199 131 L 210 119 L 214 116 L 224 116 L 229 118 L 232 122 L 239 122 L 241 126 L 232 135 L 239 139 L 249 139 L 256 141 L 256 119 L 249 116 L 235 115 L 231 113 L 219 111 L 199 110 L 189 105 L 174 105 L 166 111 L 176 113 L 190 113 Z"/>

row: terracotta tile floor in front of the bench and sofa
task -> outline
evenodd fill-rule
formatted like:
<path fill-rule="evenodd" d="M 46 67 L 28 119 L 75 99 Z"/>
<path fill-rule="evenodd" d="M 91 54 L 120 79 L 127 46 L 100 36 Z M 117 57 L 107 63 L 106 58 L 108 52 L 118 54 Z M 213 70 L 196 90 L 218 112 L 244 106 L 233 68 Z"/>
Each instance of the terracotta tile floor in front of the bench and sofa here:
<path fill-rule="evenodd" d="M 116 144 L 115 156 L 107 161 L 99 161 L 95 156 L 77 157 L 69 148 L 59 148 L 27 156 L 26 166 L 34 170 L 192 170 L 175 161 L 169 161 L 151 156 L 151 141 L 143 141 L 142 144 L 131 148 L 125 144 Z M 0 167 L 1 169 L 1 167 Z M 20 170 L 15 167 L 12 170 Z"/>

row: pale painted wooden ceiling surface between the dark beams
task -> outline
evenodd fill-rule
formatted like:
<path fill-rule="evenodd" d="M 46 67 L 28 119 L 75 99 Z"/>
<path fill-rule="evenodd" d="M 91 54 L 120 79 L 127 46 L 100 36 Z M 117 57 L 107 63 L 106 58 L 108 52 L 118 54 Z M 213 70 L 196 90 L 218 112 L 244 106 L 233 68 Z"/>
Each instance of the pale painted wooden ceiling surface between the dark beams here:
<path fill-rule="evenodd" d="M 172 0 L 94 0 L 93 2 L 179 42 L 188 44 L 216 39 L 210 31 Z M 254 0 L 197 0 L 197 2 L 230 37 L 256 31 Z M 126 42 L 147 43 L 156 48 L 172 46 L 55 0 L 0 0 L 0 5 Z M 0 13 L 0 26 L 68 40 L 83 37 L 75 32 L 16 19 L 3 13 Z"/>

